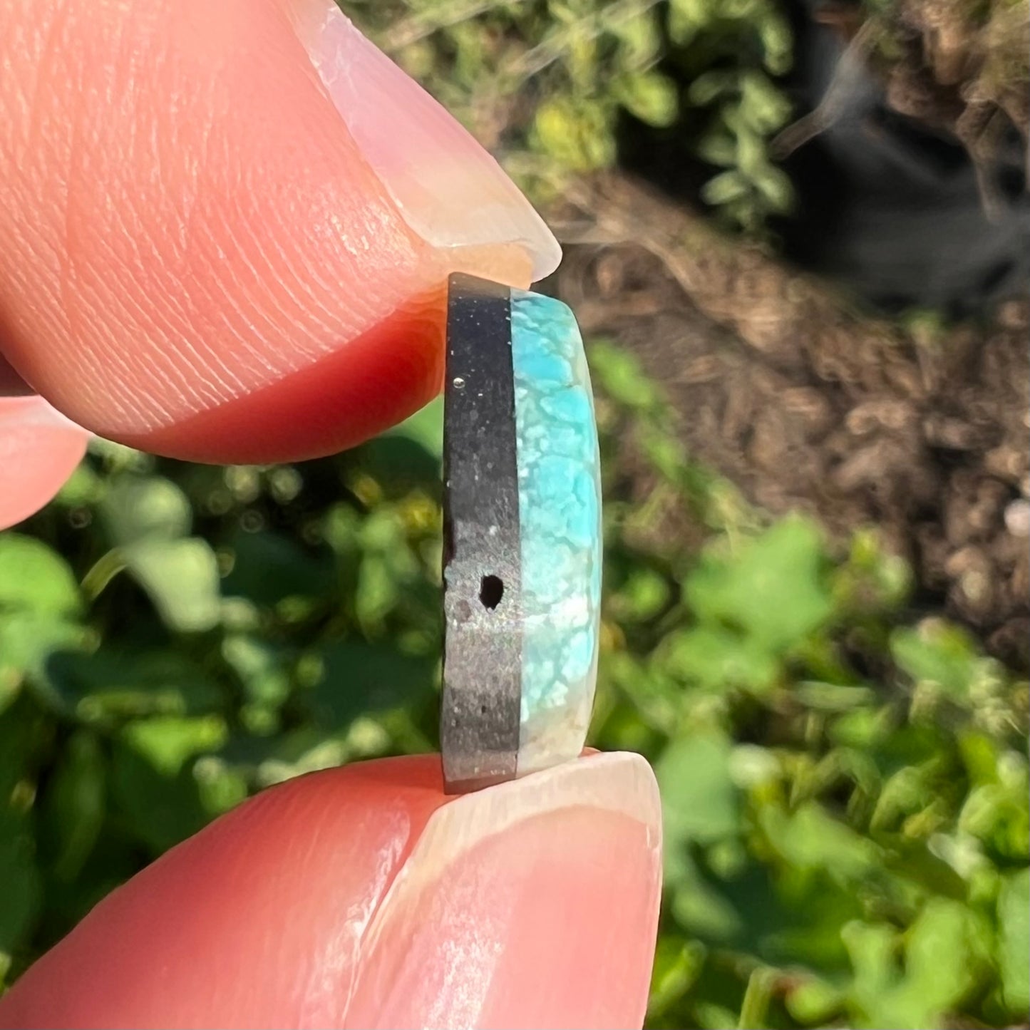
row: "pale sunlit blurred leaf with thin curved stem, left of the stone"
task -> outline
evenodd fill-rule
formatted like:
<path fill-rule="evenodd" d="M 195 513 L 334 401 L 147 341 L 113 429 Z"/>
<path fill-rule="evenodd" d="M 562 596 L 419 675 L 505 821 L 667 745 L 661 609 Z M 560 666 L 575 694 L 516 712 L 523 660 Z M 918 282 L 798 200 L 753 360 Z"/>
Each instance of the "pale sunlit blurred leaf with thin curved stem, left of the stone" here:
<path fill-rule="evenodd" d="M 126 566 L 170 629 L 210 629 L 220 618 L 218 562 L 211 545 L 148 538 L 124 549 Z"/>

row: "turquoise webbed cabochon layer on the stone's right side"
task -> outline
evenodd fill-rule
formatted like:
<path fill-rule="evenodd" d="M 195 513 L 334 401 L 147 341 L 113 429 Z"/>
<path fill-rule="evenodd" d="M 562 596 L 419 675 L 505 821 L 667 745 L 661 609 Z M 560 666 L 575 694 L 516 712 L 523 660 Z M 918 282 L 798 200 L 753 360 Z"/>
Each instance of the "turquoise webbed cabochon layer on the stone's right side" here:
<path fill-rule="evenodd" d="M 560 301 L 511 293 L 522 578 L 518 772 L 575 758 L 597 679 L 600 464 L 590 374 Z"/>

